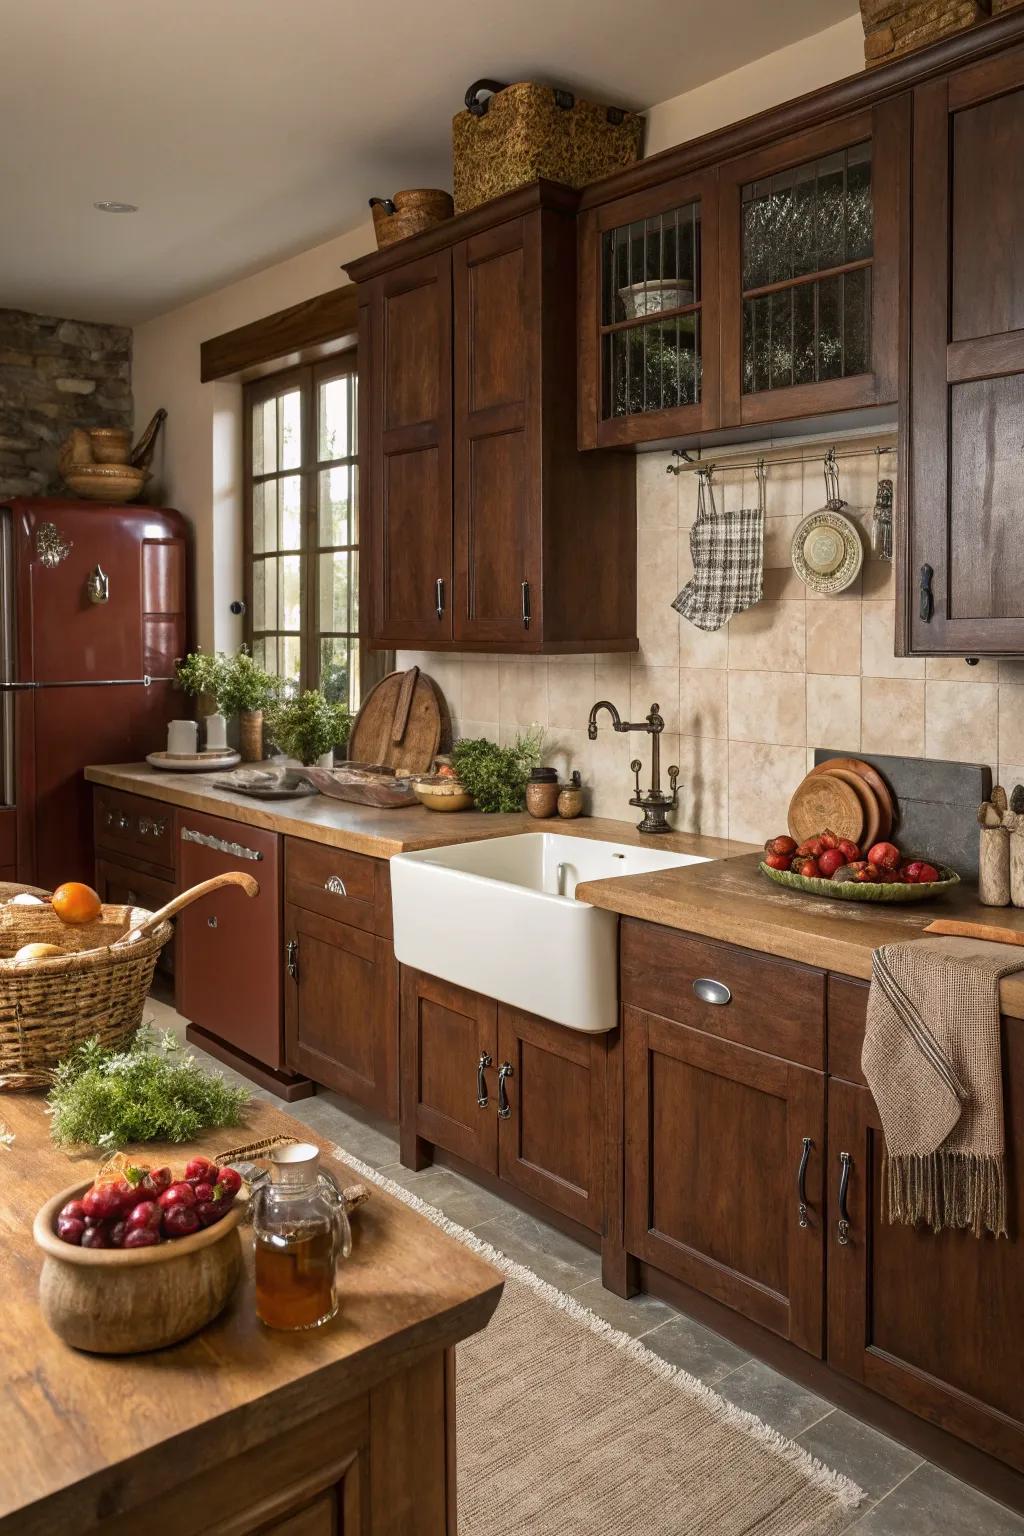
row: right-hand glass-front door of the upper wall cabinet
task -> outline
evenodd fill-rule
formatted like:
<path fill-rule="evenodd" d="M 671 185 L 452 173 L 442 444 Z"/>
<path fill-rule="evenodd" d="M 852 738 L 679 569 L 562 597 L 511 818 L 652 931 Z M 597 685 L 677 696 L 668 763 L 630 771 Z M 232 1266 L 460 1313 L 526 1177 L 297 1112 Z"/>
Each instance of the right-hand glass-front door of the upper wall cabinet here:
<path fill-rule="evenodd" d="M 906 101 L 720 170 L 722 425 L 897 399 Z"/>

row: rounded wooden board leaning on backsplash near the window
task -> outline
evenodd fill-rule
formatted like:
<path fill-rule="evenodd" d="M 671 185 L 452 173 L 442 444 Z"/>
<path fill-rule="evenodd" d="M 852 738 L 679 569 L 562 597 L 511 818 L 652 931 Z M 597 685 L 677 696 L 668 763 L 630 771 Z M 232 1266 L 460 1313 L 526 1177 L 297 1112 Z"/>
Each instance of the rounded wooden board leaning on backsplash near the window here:
<path fill-rule="evenodd" d="M 359 763 L 382 763 L 408 773 L 428 773 L 438 753 L 451 746 L 451 716 L 441 688 L 421 673 L 388 673 L 362 702 L 348 757 Z"/>

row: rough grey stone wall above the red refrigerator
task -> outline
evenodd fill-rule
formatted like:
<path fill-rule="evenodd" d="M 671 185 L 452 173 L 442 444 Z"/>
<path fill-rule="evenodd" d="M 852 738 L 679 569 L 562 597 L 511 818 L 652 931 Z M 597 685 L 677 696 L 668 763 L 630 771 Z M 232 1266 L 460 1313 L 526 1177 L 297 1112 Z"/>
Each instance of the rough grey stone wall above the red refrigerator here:
<path fill-rule="evenodd" d="M 72 427 L 132 425 L 132 332 L 0 309 L 0 498 L 61 490 Z"/>

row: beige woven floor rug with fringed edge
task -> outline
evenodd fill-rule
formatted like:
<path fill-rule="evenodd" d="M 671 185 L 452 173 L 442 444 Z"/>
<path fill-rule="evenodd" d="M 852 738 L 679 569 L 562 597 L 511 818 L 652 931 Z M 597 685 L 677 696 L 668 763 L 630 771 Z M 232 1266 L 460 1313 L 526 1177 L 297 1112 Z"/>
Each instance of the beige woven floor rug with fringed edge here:
<path fill-rule="evenodd" d="M 359 1175 L 505 1273 L 457 1346 L 459 1536 L 834 1536 L 864 1495 L 695 1376 L 448 1221 Z"/>

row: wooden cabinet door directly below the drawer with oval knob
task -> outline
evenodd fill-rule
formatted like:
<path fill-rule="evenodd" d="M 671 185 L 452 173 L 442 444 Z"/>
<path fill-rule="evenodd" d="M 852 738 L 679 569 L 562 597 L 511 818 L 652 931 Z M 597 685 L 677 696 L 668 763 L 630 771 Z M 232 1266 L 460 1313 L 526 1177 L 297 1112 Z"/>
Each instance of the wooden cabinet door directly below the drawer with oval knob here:
<path fill-rule="evenodd" d="M 823 1353 L 824 1075 L 623 1015 L 626 1250 Z"/>

